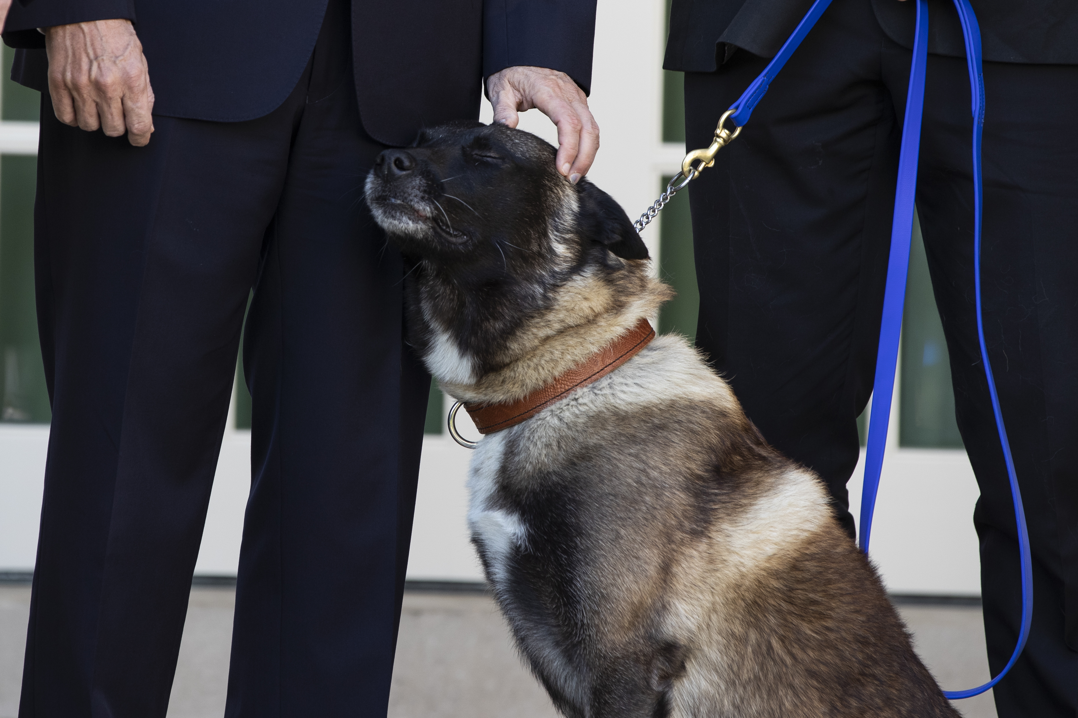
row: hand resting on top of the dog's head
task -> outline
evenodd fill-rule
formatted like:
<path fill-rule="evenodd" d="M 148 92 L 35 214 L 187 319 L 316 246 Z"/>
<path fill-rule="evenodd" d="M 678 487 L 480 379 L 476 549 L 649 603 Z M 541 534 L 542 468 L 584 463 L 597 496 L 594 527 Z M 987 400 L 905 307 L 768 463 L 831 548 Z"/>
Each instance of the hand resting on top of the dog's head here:
<path fill-rule="evenodd" d="M 519 112 L 536 108 L 557 125 L 557 171 L 576 184 L 599 149 L 599 127 L 588 98 L 569 75 L 557 70 L 519 66 L 490 75 L 486 91 L 494 122 L 516 127 Z"/>

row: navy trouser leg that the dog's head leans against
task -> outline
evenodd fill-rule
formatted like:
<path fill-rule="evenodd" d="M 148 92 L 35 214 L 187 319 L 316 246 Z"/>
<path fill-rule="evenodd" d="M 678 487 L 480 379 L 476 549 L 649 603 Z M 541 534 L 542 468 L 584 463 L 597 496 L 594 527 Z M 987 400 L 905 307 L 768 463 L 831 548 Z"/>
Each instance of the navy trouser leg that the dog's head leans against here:
<path fill-rule="evenodd" d="M 346 10 L 331 2 L 315 50 L 245 334 L 230 718 L 384 717 L 389 700 L 430 378 L 404 343 L 401 257 L 363 201 L 384 147 L 360 125 Z"/>

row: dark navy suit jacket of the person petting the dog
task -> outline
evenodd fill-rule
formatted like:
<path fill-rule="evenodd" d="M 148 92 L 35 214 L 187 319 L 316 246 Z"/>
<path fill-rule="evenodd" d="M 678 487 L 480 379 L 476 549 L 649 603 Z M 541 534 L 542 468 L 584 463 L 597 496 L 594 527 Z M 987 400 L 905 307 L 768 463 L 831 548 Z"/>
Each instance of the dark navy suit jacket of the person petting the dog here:
<path fill-rule="evenodd" d="M 268 114 L 295 87 L 327 0 L 14 0 L 13 79 L 47 86 L 39 27 L 127 18 L 142 42 L 154 113 L 217 122 Z M 363 127 L 407 144 L 421 126 L 475 117 L 482 80 L 507 67 L 591 84 L 595 0 L 353 0 Z"/>

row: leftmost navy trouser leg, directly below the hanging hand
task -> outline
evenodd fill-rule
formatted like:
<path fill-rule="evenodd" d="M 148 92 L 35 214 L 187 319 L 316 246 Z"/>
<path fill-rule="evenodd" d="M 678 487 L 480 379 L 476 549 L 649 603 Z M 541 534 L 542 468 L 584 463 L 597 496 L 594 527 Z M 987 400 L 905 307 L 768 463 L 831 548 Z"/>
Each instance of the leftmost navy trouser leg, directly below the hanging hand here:
<path fill-rule="evenodd" d="M 53 408 L 20 718 L 164 717 L 291 101 L 155 117 L 146 147 L 42 100 L 38 313 Z"/>

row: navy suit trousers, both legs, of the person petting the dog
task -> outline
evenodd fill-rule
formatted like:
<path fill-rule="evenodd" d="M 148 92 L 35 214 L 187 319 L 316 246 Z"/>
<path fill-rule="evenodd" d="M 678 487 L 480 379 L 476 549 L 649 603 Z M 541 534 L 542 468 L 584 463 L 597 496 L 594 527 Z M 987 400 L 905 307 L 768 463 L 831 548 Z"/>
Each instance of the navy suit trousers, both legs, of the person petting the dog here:
<path fill-rule="evenodd" d="M 252 287 L 225 715 L 385 716 L 429 379 L 362 199 L 383 147 L 336 5 L 260 119 L 157 116 L 140 149 L 43 98 L 53 424 L 20 718 L 165 716 Z"/>

